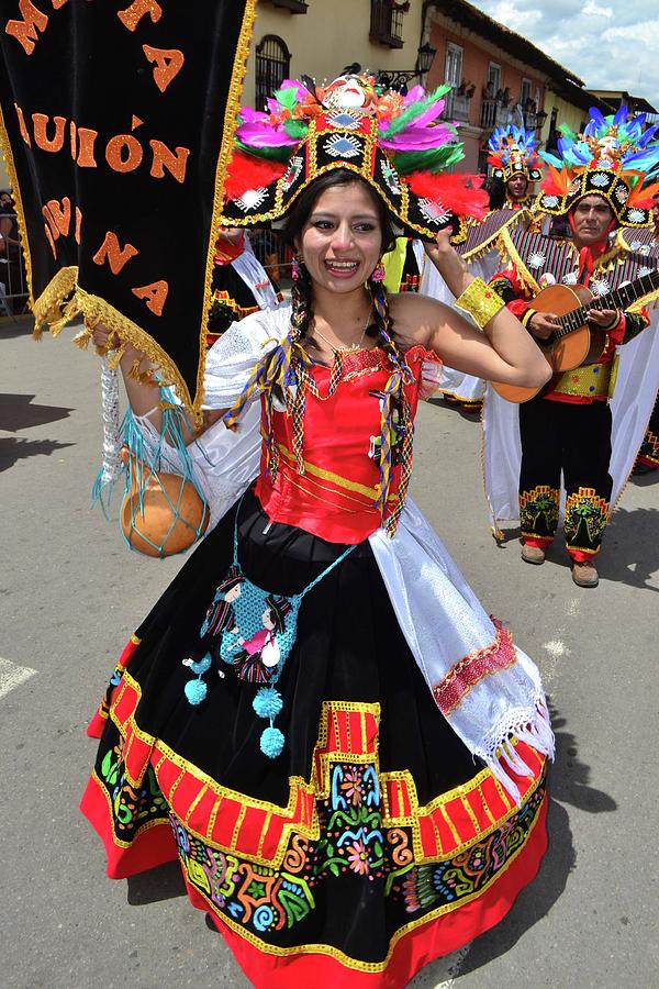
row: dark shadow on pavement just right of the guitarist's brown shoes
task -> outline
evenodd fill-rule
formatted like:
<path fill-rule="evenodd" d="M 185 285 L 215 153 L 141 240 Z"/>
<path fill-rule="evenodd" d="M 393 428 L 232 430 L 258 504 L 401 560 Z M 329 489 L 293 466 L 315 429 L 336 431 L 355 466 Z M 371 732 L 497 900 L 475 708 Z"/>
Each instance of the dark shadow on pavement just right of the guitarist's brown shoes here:
<path fill-rule="evenodd" d="M 616 509 L 597 569 L 605 580 L 659 591 L 659 510 Z"/>

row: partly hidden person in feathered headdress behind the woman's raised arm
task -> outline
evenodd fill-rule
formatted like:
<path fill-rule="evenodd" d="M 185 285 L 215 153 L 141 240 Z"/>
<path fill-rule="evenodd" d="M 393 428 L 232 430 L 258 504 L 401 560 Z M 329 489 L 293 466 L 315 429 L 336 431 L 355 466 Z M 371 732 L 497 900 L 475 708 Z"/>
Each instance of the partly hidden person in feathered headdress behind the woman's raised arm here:
<path fill-rule="evenodd" d="M 470 220 L 467 238 L 458 247 L 469 270 L 484 281 L 489 281 L 499 267 L 499 247 L 505 232 L 530 225 L 533 182 L 540 178 L 540 159 L 533 131 L 513 124 L 498 127 L 488 142 L 488 149 L 492 169 L 484 185 L 490 199 L 489 212 Z M 432 265 L 424 271 L 421 290 L 447 305 L 455 301 Z M 459 405 L 465 412 L 480 412 L 484 389 L 482 378 L 445 365 L 437 390 L 447 402 Z"/>

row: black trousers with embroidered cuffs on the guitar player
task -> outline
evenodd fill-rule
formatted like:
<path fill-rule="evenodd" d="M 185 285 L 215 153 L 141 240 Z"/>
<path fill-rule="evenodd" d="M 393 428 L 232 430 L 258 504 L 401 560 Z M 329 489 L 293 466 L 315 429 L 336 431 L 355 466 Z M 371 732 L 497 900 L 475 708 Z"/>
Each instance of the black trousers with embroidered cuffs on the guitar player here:
<path fill-rule="evenodd" d="M 611 409 L 535 398 L 520 405 L 522 536 L 548 545 L 558 525 L 561 473 L 566 489 L 563 522 L 571 555 L 600 551 L 613 480 Z"/>

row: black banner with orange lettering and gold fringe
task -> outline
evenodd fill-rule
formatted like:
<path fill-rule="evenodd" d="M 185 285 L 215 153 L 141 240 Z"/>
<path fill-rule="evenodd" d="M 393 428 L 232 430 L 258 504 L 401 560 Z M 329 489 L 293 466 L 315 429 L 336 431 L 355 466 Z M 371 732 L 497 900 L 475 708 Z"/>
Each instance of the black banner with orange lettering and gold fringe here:
<path fill-rule="evenodd" d="M 0 140 L 37 325 L 102 319 L 189 405 L 255 7 L 0 4 Z"/>

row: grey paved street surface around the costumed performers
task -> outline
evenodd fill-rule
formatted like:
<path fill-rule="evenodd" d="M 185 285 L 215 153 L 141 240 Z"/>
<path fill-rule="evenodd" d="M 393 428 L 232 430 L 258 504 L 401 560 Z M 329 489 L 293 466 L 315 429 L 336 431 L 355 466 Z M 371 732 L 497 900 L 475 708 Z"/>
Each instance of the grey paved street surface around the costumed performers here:
<path fill-rule="evenodd" d="M 178 866 L 107 879 L 77 810 L 94 755 L 86 723 L 181 560 L 129 553 L 116 523 L 89 510 L 99 362 L 72 335 L 35 344 L 25 324 L 0 321 L 0 987 L 237 989 L 248 984 L 189 907 Z M 581 590 L 559 548 L 529 567 L 516 538 L 494 544 L 479 425 L 442 404 L 417 422 L 413 494 L 539 664 L 558 752 L 537 881 L 412 985 L 656 987 L 659 478 L 629 484 L 600 587 Z"/>

